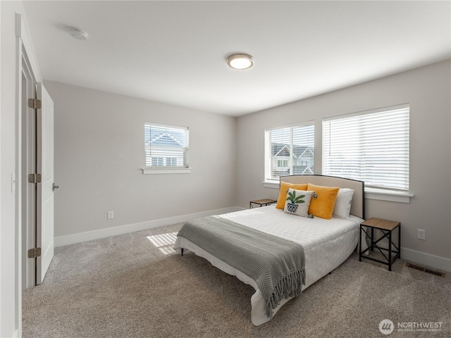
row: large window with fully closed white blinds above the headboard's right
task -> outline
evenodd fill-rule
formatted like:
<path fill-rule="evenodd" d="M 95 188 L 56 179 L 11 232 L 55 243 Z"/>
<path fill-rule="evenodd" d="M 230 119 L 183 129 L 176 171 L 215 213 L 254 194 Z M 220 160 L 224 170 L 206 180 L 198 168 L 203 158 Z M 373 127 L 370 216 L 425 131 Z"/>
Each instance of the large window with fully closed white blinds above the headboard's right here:
<path fill-rule="evenodd" d="M 409 106 L 323 120 L 323 174 L 409 190 Z"/>

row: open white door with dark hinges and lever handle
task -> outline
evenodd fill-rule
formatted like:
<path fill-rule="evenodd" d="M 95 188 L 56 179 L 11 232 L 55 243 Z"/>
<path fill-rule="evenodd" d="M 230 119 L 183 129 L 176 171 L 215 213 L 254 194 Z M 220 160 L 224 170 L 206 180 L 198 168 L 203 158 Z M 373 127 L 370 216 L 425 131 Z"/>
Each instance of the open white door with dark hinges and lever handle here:
<path fill-rule="evenodd" d="M 37 84 L 37 225 L 36 284 L 41 284 L 54 257 L 54 102 L 41 83 Z"/>

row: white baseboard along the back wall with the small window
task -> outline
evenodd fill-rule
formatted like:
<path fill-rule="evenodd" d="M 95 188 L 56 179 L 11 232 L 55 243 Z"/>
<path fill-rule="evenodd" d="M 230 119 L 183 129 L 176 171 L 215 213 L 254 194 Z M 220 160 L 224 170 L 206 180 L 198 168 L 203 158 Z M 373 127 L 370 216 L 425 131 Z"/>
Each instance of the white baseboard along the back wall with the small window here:
<path fill-rule="evenodd" d="M 55 237 L 54 245 L 63 246 L 75 244 L 80 242 L 91 241 L 92 239 L 105 238 L 110 236 L 117 236 L 118 234 L 128 234 L 129 232 L 141 231 L 151 229 L 153 227 L 163 227 L 164 225 L 171 225 L 175 223 L 186 222 L 187 220 L 194 220 L 211 215 L 221 215 L 222 213 L 233 213 L 234 211 L 242 210 L 237 206 L 230 208 L 222 208 L 211 211 L 203 211 L 202 213 L 191 213 L 189 215 L 180 215 L 169 218 L 161 218 L 159 220 L 148 220 L 141 223 L 133 223 L 128 225 L 121 225 L 119 227 L 108 227 L 106 229 L 94 230 L 88 232 L 80 232 L 78 234 L 68 234 L 67 236 Z"/>

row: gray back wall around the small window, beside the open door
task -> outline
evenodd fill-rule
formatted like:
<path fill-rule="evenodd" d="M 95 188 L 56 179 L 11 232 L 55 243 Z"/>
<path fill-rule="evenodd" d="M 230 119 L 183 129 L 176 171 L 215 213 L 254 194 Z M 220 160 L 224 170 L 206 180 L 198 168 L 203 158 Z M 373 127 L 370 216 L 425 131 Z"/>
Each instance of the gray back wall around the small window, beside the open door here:
<path fill-rule="evenodd" d="M 44 86 L 55 105 L 55 237 L 235 206 L 236 118 Z M 142 174 L 145 122 L 190 127 L 190 174 Z"/>

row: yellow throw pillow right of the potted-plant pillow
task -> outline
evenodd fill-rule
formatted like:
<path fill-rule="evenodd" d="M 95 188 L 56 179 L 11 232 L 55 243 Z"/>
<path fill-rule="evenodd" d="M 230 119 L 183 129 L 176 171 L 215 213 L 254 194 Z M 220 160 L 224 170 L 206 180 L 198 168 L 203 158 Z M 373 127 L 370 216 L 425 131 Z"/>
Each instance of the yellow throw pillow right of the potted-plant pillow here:
<path fill-rule="evenodd" d="M 330 220 L 340 188 L 323 187 L 309 183 L 307 190 L 316 192 L 316 199 L 310 201 L 309 214 Z"/>

